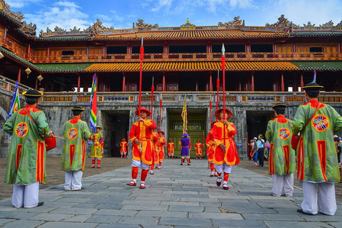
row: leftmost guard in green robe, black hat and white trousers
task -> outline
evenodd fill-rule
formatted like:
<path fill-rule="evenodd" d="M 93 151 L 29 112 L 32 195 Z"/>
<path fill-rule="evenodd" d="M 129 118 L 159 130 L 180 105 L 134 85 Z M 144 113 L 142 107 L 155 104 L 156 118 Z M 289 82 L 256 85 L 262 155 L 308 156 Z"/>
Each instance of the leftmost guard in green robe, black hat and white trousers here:
<path fill-rule="evenodd" d="M 26 107 L 14 113 L 4 124 L 4 131 L 11 135 L 11 145 L 5 183 L 14 184 L 14 207 L 38 207 L 39 183 L 46 182 L 46 145 L 44 137 L 53 137 L 46 116 L 37 107 L 43 92 L 27 90 Z"/>

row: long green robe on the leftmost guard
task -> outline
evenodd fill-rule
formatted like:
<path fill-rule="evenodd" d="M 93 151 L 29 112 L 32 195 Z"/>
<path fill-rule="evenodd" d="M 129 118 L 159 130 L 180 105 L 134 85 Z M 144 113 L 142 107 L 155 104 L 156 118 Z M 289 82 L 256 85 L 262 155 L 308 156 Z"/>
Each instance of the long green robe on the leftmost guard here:
<path fill-rule="evenodd" d="M 4 124 L 4 131 L 11 135 L 11 145 L 6 169 L 6 184 L 29 185 L 46 183 L 46 145 L 43 137 L 50 136 L 50 130 L 43 111 L 33 105 L 26 105 L 14 113 Z"/>

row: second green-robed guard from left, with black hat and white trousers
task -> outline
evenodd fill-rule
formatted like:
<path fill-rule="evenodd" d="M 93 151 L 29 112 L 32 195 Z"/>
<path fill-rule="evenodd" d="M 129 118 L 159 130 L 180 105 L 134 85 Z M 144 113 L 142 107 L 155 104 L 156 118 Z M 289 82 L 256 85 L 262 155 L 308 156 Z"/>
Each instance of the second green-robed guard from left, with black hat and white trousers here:
<path fill-rule="evenodd" d="M 62 153 L 62 170 L 65 172 L 64 190 L 82 189 L 82 175 L 86 167 L 86 140 L 90 131 L 85 121 L 81 120 L 83 108 L 74 107 L 73 119 L 63 125 L 64 145 Z"/>

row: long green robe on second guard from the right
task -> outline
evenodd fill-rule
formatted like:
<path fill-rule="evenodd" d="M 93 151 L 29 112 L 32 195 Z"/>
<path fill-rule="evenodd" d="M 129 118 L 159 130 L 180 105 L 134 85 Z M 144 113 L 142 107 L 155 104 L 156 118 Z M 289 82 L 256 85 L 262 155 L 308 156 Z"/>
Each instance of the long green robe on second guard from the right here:
<path fill-rule="evenodd" d="M 269 175 L 288 175 L 295 172 L 296 155 L 291 148 L 291 120 L 278 115 L 269 120 L 266 139 L 271 144 L 269 150 Z"/>

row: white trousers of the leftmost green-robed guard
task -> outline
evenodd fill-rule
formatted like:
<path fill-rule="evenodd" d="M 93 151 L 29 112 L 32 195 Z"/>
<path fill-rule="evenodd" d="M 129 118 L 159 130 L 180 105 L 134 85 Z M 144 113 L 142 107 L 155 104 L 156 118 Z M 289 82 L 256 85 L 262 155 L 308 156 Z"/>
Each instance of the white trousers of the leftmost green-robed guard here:
<path fill-rule="evenodd" d="M 39 195 L 39 182 L 30 185 L 14 185 L 12 204 L 14 207 L 37 207 Z"/>

